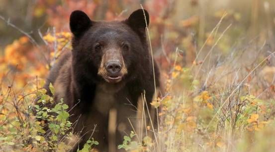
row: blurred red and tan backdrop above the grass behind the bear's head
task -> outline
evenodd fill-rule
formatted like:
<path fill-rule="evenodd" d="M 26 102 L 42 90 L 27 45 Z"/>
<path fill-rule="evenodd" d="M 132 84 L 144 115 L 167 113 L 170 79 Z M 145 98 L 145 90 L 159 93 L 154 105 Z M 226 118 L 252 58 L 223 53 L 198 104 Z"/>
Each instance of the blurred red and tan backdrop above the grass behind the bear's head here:
<path fill-rule="evenodd" d="M 39 32 L 69 31 L 69 15 L 75 9 L 84 10 L 93 20 L 120 20 L 140 4 L 150 13 L 150 36 L 157 56 L 179 47 L 190 63 L 224 12 L 227 15 L 220 28 L 232 26 L 219 44 L 221 51 L 244 43 L 241 39 L 274 42 L 274 0 L 0 0 L 0 54 L 24 36 L 8 23 L 41 44 Z"/>

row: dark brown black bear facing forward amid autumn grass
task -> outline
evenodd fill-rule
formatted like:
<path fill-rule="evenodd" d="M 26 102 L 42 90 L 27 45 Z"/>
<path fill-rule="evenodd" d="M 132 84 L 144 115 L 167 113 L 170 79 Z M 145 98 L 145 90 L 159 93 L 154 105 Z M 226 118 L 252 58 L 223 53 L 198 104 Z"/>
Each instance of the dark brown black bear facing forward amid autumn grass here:
<path fill-rule="evenodd" d="M 121 133 L 130 126 L 128 118 L 135 116 L 142 93 L 150 105 L 155 93 L 153 65 L 156 87 L 160 86 L 160 72 L 148 49 L 148 24 L 149 14 L 144 9 L 134 11 L 126 20 L 111 22 L 92 21 L 80 10 L 72 12 L 73 50 L 60 56 L 45 88 L 50 94 L 48 86 L 52 83 L 54 99 L 63 98 L 73 108 L 70 121 L 81 137 L 80 149 L 96 124 L 92 134 L 99 142 L 96 149 L 108 151 L 110 109 L 116 109 L 115 128 L 109 131 L 120 136 L 117 145 L 122 143 Z"/>

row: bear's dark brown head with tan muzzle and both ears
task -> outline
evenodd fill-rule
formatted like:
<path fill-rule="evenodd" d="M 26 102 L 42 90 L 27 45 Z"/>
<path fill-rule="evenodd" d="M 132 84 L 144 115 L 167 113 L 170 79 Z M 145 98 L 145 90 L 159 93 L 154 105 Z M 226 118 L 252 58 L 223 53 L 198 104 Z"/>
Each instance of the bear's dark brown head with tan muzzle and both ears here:
<path fill-rule="evenodd" d="M 80 10 L 70 16 L 74 35 L 73 70 L 92 83 L 111 84 L 127 81 L 138 75 L 135 68 L 150 64 L 146 40 L 149 14 L 134 11 L 123 21 L 92 21 Z M 131 75 L 131 76 L 129 76 Z"/>

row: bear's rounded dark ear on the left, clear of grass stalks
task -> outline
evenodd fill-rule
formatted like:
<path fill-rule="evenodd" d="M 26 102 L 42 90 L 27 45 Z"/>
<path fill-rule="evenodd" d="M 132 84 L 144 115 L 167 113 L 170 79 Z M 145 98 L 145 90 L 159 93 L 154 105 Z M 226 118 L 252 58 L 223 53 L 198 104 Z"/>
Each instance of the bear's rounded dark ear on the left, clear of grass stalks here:
<path fill-rule="evenodd" d="M 75 36 L 82 35 L 91 26 L 92 21 L 85 12 L 75 10 L 71 13 L 70 29 Z"/>

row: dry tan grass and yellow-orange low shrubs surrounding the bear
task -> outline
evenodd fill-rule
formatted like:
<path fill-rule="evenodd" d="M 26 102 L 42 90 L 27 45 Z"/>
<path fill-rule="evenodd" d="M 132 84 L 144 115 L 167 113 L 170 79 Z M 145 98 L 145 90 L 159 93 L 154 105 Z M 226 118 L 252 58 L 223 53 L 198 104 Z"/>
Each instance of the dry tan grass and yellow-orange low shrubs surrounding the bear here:
<path fill-rule="evenodd" d="M 252 16 L 254 20 L 257 19 L 255 15 L 257 13 Z M 194 45 L 199 50 L 194 50 L 196 55 L 192 63 L 184 64 L 186 58 L 181 54 L 182 48 L 193 45 L 189 40 L 184 39 L 185 45 L 175 46 L 175 51 L 165 54 L 164 58 L 171 63 L 166 68 L 161 63 L 165 93 L 151 102 L 160 109 L 157 111 L 158 126 L 150 127 L 152 121 L 144 121 L 149 109 L 143 98 L 141 126 L 136 127 L 135 122 L 129 121 L 133 131 L 125 135 L 119 149 L 132 152 L 273 152 L 275 52 L 269 43 L 272 39 L 259 35 L 231 40 L 229 35 L 236 25 L 224 22 L 226 17 L 227 13 L 220 16 L 205 41 L 200 42 L 201 46 Z M 147 33 L 149 38 L 156 35 L 154 29 L 149 31 L 147 28 Z M 40 102 L 53 102 L 41 87 L 60 52 L 71 49 L 71 35 L 54 30 L 41 38 L 46 45 L 33 47 L 33 39 L 22 37 L 6 47 L 0 58 L 0 70 L 3 71 L 0 73 L 0 151 L 66 151 L 71 148 L 66 140 L 74 138 L 70 131 L 73 124 L 68 121 L 66 104 L 60 103 L 53 108 L 34 104 L 37 96 L 41 97 Z M 154 42 L 149 40 L 153 56 L 151 43 Z M 235 42 L 228 46 L 228 41 Z M 43 56 L 49 62 L 32 60 L 24 53 L 29 49 L 47 50 Z M 48 132 L 44 130 L 46 127 L 50 128 Z M 97 144 L 100 143 L 91 137 L 81 152 L 89 152 Z"/>

